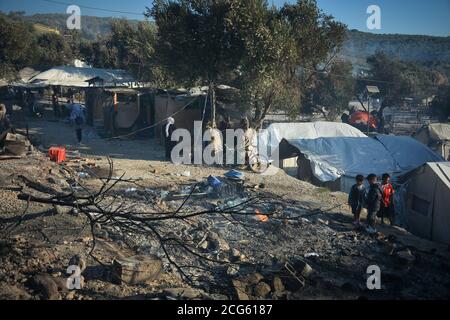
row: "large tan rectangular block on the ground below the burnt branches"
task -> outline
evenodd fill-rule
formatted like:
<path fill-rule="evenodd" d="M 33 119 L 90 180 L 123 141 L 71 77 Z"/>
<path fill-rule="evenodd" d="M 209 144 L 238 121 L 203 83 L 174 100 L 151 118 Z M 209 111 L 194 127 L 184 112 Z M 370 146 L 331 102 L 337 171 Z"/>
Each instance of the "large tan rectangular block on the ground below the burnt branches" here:
<path fill-rule="evenodd" d="M 130 258 L 116 258 L 113 261 L 113 278 L 128 284 L 144 284 L 159 277 L 163 263 L 155 255 L 137 255 Z"/>

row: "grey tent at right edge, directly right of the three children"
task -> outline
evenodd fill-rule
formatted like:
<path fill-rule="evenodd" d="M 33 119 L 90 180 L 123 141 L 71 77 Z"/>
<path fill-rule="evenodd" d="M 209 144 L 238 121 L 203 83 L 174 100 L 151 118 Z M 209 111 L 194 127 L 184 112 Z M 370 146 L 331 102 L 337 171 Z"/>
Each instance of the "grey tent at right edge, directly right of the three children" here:
<path fill-rule="evenodd" d="M 413 234 L 450 245 L 450 162 L 431 162 L 405 174 L 396 213 Z"/>

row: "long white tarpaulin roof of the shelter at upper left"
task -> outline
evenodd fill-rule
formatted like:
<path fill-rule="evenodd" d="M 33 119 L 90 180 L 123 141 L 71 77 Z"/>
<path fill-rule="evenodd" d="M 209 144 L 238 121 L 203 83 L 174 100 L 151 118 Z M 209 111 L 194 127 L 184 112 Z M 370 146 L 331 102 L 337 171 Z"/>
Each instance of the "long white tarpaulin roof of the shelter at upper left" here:
<path fill-rule="evenodd" d="M 135 80 L 124 70 L 77 68 L 62 66 L 51 68 L 32 77 L 29 81 L 36 85 L 54 85 L 71 87 L 88 87 L 88 80 L 102 79 L 108 86 L 128 86 Z"/>

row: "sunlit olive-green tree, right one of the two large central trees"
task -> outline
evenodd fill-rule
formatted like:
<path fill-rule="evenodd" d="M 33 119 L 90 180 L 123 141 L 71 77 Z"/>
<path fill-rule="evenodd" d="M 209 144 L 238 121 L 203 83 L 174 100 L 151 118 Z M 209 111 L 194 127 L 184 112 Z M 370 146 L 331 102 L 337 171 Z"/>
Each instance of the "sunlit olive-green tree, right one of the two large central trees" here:
<path fill-rule="evenodd" d="M 304 96 L 314 88 L 317 69 L 327 70 L 345 39 L 346 26 L 324 14 L 314 0 L 298 0 L 280 10 L 266 1 L 244 1 L 245 30 L 242 63 L 244 97 L 260 127 L 267 112 L 282 109 L 296 115 L 316 105 Z M 255 9 L 256 7 L 257 9 Z M 242 20 L 242 18 L 241 18 Z"/>

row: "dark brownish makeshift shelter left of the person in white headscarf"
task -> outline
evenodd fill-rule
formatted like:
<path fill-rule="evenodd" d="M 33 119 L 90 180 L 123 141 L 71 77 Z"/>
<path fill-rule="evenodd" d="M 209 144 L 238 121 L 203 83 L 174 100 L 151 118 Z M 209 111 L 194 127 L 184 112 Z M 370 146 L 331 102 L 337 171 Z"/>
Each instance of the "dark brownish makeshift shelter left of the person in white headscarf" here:
<path fill-rule="evenodd" d="M 117 136 L 154 123 L 153 91 L 130 88 L 86 88 L 87 123 L 107 136 Z M 142 131 L 152 137 L 152 131 Z"/>

